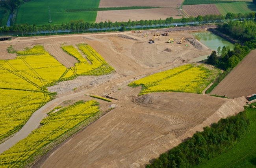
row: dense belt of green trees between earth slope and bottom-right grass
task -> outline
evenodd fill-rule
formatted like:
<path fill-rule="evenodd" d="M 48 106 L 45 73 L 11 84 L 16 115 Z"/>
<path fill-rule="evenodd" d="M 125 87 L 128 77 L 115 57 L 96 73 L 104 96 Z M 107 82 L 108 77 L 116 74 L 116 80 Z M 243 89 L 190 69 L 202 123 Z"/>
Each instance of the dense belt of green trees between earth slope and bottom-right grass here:
<path fill-rule="evenodd" d="M 246 112 L 204 127 L 184 143 L 161 154 L 146 168 L 191 168 L 228 151 L 249 131 Z"/>

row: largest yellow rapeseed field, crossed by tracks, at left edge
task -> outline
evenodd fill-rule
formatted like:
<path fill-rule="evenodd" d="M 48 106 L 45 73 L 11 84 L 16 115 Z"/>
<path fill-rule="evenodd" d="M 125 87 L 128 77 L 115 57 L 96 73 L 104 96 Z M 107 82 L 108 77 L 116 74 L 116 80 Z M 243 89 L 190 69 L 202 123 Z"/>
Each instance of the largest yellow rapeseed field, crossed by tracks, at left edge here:
<path fill-rule="evenodd" d="M 113 71 L 91 47 L 80 47 L 81 50 L 89 48 L 100 59 L 97 61 L 95 56 L 91 56 L 94 61 L 89 64 L 77 49 L 67 46 L 63 49 L 79 61 L 67 69 L 43 46 L 36 45 L 32 49 L 18 51 L 19 57 L 15 60 L 0 60 L 0 141 L 17 132 L 35 110 L 50 100 L 51 93 L 46 87 L 78 75 L 102 75 Z M 89 50 L 83 52 L 89 54 Z"/>

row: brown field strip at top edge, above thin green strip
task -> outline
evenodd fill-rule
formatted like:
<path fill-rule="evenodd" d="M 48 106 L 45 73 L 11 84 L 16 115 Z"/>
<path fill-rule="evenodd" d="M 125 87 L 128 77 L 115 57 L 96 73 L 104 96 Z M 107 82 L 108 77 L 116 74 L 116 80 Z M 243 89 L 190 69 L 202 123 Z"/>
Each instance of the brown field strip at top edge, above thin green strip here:
<path fill-rule="evenodd" d="M 183 0 L 100 0 L 99 7 L 155 6 L 180 7 Z"/>

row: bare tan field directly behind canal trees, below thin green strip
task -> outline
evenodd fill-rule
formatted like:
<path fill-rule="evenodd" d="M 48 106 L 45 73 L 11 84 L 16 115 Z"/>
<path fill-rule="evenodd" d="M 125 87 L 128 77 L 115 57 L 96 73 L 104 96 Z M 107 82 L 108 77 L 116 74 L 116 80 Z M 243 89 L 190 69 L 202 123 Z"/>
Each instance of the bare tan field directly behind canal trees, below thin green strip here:
<path fill-rule="evenodd" d="M 117 11 L 98 11 L 96 22 L 128 22 L 128 20 L 159 20 L 173 17 L 180 19 L 178 16 L 179 10 L 175 8 L 156 8 L 156 9 L 131 9 L 131 10 L 117 10 Z M 183 13 L 182 13 L 183 14 Z M 186 16 L 185 16 L 186 17 Z"/>

